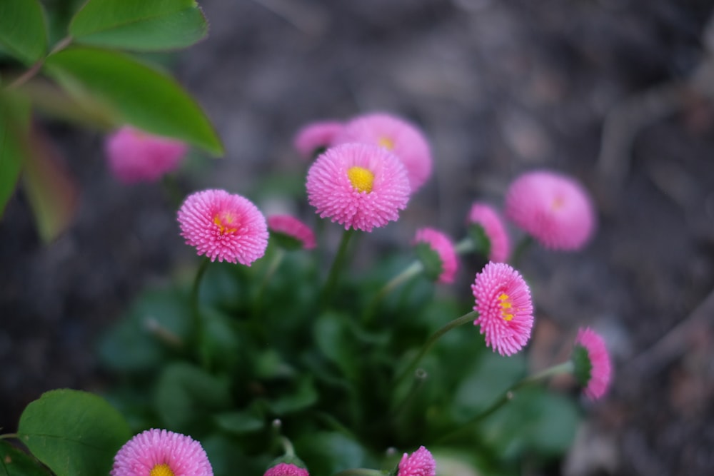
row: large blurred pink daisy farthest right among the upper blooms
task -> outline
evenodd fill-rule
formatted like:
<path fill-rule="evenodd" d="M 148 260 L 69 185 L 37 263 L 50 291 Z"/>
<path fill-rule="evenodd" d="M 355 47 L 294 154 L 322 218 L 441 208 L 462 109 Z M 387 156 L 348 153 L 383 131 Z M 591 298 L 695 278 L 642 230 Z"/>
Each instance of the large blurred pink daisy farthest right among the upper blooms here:
<path fill-rule="evenodd" d="M 550 171 L 525 173 L 506 193 L 506 216 L 545 248 L 577 250 L 593 235 L 595 212 L 578 182 Z"/>

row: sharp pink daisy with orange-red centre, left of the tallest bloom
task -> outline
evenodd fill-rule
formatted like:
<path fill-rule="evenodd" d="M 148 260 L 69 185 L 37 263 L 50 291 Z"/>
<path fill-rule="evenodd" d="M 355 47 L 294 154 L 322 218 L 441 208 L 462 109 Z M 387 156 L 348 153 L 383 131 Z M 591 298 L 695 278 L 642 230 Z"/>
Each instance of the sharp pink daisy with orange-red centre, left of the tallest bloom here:
<path fill-rule="evenodd" d="M 247 198 L 223 190 L 205 190 L 186 197 L 178 210 L 186 244 L 211 261 L 250 266 L 265 254 L 268 226 Z"/>

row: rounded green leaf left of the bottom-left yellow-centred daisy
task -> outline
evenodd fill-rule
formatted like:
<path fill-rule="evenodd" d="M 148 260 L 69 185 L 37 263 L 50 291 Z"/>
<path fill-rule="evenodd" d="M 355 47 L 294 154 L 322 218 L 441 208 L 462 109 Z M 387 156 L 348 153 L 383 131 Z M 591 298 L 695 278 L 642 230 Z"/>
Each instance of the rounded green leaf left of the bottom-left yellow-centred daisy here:
<path fill-rule="evenodd" d="M 27 405 L 18 435 L 57 476 L 94 476 L 109 473 L 131 430 L 103 398 L 78 390 L 52 390 Z"/>

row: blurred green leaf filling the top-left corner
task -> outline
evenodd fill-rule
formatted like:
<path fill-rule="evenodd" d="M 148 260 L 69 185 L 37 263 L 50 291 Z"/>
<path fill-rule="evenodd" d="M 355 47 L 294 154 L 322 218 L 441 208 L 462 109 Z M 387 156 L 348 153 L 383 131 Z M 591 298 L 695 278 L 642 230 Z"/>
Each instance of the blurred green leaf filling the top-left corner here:
<path fill-rule="evenodd" d="M 0 1 L 0 45 L 24 64 L 47 51 L 47 31 L 38 0 Z"/>

